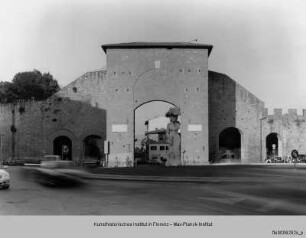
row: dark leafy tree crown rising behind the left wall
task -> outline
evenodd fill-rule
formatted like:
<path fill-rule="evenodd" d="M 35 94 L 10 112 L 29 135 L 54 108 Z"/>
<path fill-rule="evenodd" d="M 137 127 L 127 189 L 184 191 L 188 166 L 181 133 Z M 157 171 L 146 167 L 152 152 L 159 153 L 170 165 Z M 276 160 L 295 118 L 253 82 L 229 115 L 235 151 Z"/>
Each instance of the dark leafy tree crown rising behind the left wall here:
<path fill-rule="evenodd" d="M 45 100 L 59 90 L 57 81 L 50 73 L 38 70 L 17 73 L 12 82 L 0 82 L 0 103 L 17 100 Z"/>

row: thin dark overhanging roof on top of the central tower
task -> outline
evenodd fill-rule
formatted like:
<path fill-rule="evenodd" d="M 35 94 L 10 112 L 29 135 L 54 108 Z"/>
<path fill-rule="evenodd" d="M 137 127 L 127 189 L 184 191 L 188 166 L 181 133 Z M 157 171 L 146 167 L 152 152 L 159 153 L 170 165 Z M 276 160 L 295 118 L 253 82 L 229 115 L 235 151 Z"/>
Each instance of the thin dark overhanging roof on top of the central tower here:
<path fill-rule="evenodd" d="M 208 49 L 208 55 L 213 48 L 212 45 L 190 43 L 190 42 L 128 42 L 119 44 L 102 45 L 106 53 L 108 49 L 137 49 L 137 48 L 189 48 L 189 49 Z"/>

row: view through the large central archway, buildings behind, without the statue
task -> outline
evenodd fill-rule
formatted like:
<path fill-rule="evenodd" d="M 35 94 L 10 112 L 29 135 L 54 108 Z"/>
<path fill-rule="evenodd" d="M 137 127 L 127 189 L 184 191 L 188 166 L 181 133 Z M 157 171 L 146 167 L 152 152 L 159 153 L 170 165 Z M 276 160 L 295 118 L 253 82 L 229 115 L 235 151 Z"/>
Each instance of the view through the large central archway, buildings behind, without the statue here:
<path fill-rule="evenodd" d="M 175 144 L 169 138 L 167 126 L 170 124 L 166 113 L 170 108 L 178 107 L 166 101 L 149 101 L 134 110 L 134 164 L 140 165 L 175 165 L 174 156 L 180 156 L 180 130 L 177 130 Z M 176 125 L 180 125 L 177 117 Z M 170 143 L 170 144 L 169 144 Z M 175 147 L 175 148 L 174 148 Z M 177 158 L 177 161 L 180 158 Z"/>

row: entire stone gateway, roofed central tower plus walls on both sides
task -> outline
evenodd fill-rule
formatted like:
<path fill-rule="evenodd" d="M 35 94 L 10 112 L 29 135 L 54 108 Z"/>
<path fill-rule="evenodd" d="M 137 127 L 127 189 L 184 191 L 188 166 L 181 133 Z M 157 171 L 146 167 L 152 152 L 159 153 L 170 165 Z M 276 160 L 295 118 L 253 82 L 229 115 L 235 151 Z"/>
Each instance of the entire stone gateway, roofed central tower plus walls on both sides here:
<path fill-rule="evenodd" d="M 102 46 L 106 70 L 87 72 L 42 102 L 0 105 L 0 160 L 54 153 L 59 137 L 83 161 L 84 141 L 109 141 L 109 166 L 134 165 L 135 110 L 151 101 L 181 109 L 183 165 L 217 162 L 220 134 L 236 128 L 241 162 L 262 162 L 266 137 L 277 133 L 278 154 L 306 154 L 306 112 L 268 115 L 264 103 L 225 74 L 208 71 L 212 46 L 124 43 Z M 100 148 L 104 153 L 103 145 Z"/>

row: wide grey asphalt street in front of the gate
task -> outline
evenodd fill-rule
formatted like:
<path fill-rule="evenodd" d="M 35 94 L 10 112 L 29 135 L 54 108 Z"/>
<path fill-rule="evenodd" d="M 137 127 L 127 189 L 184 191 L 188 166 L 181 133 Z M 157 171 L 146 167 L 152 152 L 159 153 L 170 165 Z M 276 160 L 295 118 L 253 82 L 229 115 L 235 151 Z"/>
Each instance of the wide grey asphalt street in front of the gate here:
<path fill-rule="evenodd" d="M 8 168 L 0 215 L 306 215 L 306 170 L 292 166 L 205 167 L 199 182 L 88 179 L 71 188 L 44 187 L 22 169 Z"/>

